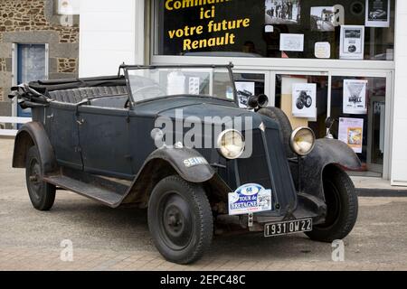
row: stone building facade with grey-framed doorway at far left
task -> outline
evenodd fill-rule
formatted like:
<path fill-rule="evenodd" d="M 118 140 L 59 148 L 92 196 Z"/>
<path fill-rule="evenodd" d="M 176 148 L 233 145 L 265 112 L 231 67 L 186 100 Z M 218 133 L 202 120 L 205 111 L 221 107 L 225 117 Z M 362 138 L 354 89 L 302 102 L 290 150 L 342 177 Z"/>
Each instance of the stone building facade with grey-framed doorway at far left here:
<path fill-rule="evenodd" d="M 49 79 L 78 76 L 79 15 L 58 15 L 57 2 L 0 0 L 0 116 L 13 114 L 7 96 L 13 85 L 14 43 L 48 44 Z"/>

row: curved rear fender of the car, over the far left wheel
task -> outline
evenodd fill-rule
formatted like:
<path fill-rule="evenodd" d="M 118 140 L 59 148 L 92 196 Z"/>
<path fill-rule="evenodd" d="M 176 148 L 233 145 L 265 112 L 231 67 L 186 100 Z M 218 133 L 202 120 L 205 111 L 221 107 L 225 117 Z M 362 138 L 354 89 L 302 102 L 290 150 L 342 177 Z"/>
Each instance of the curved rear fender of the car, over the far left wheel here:
<path fill-rule="evenodd" d="M 48 135 L 39 122 L 24 124 L 15 136 L 13 167 L 25 168 L 25 158 L 28 149 L 35 145 L 40 154 L 43 173 L 53 172 L 57 168 L 55 154 Z"/>

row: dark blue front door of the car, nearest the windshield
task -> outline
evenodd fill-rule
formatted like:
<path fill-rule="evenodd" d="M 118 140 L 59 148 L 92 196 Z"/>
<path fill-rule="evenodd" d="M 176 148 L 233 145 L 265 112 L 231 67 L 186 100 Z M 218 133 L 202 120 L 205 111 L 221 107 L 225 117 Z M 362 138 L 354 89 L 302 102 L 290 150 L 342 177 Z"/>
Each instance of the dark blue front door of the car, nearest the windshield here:
<path fill-rule="evenodd" d="M 132 179 L 128 109 L 80 106 L 78 117 L 84 171 Z"/>

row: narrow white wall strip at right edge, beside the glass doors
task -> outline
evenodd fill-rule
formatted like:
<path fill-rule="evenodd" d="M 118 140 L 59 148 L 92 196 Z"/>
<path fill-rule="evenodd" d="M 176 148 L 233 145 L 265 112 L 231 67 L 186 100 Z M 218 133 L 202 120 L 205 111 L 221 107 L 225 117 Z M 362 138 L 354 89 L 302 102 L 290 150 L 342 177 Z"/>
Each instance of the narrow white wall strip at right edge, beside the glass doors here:
<path fill-rule="evenodd" d="M 392 184 L 407 186 L 407 1 L 396 2 Z"/>

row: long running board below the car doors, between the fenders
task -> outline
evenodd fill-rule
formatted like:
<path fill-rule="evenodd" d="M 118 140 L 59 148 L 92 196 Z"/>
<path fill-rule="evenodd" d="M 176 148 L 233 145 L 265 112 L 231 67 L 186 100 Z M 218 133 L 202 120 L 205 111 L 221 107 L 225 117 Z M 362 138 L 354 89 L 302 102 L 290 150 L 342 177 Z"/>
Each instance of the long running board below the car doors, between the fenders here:
<path fill-rule="evenodd" d="M 77 177 L 72 177 L 64 171 L 59 174 L 44 176 L 43 181 L 67 191 L 76 192 L 91 200 L 97 200 L 110 208 L 117 208 L 129 189 L 128 185 L 122 182 L 114 182 L 84 172 L 75 173 Z"/>

